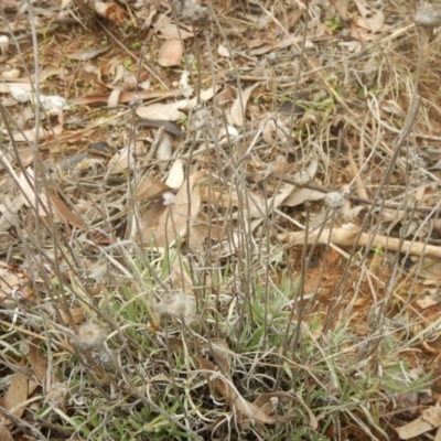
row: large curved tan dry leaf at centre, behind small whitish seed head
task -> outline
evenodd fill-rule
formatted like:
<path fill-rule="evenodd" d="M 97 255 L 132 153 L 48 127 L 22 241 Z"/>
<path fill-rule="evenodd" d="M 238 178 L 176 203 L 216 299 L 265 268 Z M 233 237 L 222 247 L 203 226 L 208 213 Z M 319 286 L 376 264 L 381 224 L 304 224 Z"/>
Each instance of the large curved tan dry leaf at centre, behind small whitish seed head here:
<path fill-rule="evenodd" d="M 204 175 L 204 171 L 198 171 L 184 181 L 174 204 L 169 205 L 168 209 L 161 214 L 158 228 L 152 234 L 148 234 L 144 240 L 152 240 L 157 246 L 165 247 L 171 246 L 178 237 L 185 235 L 187 225 L 191 224 L 192 218 L 196 217 L 201 207 L 197 183 Z"/>

